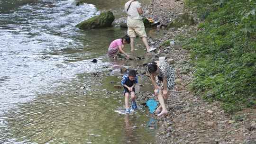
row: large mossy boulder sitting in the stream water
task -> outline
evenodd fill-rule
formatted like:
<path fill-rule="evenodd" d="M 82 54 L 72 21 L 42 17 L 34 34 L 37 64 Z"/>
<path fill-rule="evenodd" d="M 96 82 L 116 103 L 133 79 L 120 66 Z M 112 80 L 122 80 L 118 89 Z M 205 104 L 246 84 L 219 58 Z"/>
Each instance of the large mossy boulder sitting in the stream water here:
<path fill-rule="evenodd" d="M 115 17 L 111 11 L 101 12 L 99 16 L 89 18 L 77 24 L 76 27 L 80 29 L 110 27 L 114 20 L 115 20 Z"/>

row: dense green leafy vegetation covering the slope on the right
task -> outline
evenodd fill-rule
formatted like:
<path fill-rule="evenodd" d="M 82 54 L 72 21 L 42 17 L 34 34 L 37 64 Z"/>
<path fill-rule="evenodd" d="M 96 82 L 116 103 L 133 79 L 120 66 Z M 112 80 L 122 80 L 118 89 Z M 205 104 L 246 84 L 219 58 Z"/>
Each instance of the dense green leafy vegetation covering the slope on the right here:
<path fill-rule="evenodd" d="M 183 46 L 195 64 L 192 90 L 227 112 L 256 106 L 256 0 L 186 0 L 200 29 Z"/>

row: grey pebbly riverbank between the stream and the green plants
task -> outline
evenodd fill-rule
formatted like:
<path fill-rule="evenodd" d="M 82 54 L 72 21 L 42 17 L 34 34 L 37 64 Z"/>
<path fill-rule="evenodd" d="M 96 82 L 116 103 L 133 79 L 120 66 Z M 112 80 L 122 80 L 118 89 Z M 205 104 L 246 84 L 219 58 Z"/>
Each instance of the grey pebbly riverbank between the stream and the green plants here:
<path fill-rule="evenodd" d="M 175 89 L 167 101 L 169 115 L 158 119 L 157 144 L 256 144 L 256 109 L 231 115 L 220 108 L 219 102 L 208 103 L 189 90 L 195 70 L 189 52 L 179 46 L 183 42 L 177 37 L 190 37 L 197 31 L 199 18 L 184 9 L 183 0 L 152 0 L 145 12 L 164 27 L 183 13 L 190 13 L 195 20 L 193 26 L 170 28 L 162 38 L 150 40 L 150 45 L 159 49 L 155 57 L 165 56 L 176 70 Z M 174 46 L 169 41 L 174 41 Z M 147 97 L 142 94 L 140 99 Z"/>

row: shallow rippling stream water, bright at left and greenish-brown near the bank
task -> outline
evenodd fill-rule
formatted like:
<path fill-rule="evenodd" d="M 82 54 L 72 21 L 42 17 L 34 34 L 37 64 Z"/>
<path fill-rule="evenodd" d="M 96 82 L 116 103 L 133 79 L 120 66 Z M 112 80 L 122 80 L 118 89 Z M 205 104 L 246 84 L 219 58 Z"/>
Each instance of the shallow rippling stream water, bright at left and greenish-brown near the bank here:
<path fill-rule="evenodd" d="M 1 144 L 155 144 L 144 109 L 114 112 L 124 98 L 111 83 L 119 84 L 115 75 L 126 62 L 110 60 L 106 51 L 126 29 L 75 27 L 100 10 L 121 17 L 126 0 L 82 1 L 0 0 Z M 100 79 L 96 72 L 109 76 Z"/>

